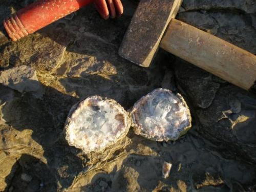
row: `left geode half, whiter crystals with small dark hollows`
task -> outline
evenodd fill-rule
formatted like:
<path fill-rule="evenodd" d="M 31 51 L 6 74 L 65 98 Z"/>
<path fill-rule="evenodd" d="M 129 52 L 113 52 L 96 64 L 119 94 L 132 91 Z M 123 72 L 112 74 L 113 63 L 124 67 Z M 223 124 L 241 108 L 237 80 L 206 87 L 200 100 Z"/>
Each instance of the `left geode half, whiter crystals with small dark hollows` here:
<path fill-rule="evenodd" d="M 129 114 L 113 99 L 92 96 L 72 106 L 66 139 L 83 152 L 100 152 L 123 138 L 131 126 Z"/>

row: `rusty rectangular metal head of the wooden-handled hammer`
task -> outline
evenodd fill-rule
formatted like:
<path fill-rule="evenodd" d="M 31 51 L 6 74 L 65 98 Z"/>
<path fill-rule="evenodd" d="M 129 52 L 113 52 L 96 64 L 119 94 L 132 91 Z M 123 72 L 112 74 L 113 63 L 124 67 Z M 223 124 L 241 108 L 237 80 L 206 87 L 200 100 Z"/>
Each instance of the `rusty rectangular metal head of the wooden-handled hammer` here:
<path fill-rule="evenodd" d="M 142 67 L 151 64 L 170 19 L 182 0 L 141 0 L 124 35 L 119 55 Z"/>

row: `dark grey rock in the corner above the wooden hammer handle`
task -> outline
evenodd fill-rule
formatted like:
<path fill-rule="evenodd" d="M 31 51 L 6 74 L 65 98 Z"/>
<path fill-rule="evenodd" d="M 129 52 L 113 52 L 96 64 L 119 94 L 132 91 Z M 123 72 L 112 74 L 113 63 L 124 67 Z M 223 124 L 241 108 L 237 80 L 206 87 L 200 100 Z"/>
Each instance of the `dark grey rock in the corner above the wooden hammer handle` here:
<path fill-rule="evenodd" d="M 256 54 L 255 1 L 185 0 L 182 6 L 178 19 Z"/>

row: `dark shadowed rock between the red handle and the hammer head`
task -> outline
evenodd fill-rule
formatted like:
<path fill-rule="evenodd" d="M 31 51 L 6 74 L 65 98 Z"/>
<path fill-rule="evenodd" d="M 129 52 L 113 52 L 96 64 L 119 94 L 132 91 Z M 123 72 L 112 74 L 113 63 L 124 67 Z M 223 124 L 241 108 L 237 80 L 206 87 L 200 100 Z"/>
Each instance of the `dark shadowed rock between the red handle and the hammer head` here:
<path fill-rule="evenodd" d="M 131 3 L 130 3 L 131 4 Z M 131 16 L 122 15 L 115 19 L 102 19 L 94 5 L 83 7 L 76 13 L 62 18 L 39 31 L 67 51 L 78 54 L 102 54 L 116 52 L 131 21 Z"/>

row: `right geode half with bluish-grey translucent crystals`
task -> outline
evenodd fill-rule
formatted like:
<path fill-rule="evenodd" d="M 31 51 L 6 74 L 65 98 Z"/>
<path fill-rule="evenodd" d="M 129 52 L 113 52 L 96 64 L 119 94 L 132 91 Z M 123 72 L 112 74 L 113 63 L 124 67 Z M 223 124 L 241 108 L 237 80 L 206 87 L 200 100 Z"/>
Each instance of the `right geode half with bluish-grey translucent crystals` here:
<path fill-rule="evenodd" d="M 191 127 L 185 100 L 167 89 L 156 89 L 142 97 L 130 115 L 134 132 L 156 141 L 175 141 Z"/>

